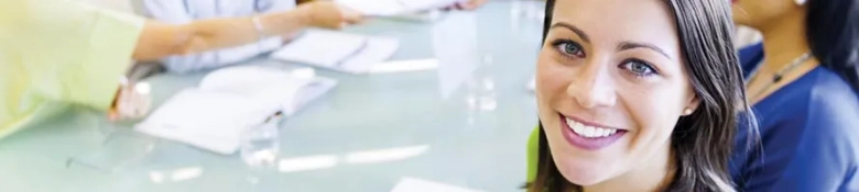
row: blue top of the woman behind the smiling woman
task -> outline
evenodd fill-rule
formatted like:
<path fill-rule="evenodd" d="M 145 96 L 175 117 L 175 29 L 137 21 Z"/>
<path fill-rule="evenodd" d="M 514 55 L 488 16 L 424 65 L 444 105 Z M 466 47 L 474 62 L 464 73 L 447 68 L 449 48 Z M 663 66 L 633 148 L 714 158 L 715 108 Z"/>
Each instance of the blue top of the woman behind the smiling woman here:
<path fill-rule="evenodd" d="M 740 50 L 746 77 L 762 59 L 760 44 Z M 741 124 L 730 161 L 739 191 L 859 191 L 859 97 L 842 78 L 817 67 L 753 111 L 760 145 Z"/>

